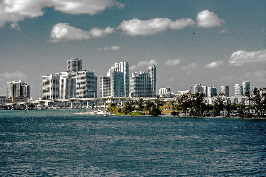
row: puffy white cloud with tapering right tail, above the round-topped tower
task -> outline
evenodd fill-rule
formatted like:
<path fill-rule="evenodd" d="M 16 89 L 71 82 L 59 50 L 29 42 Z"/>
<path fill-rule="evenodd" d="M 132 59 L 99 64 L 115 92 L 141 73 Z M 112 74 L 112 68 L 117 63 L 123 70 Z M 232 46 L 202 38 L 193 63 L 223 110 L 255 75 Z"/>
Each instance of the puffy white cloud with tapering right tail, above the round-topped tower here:
<path fill-rule="evenodd" d="M 88 40 L 89 38 L 99 38 L 111 34 L 113 31 L 114 28 L 111 27 L 106 27 L 106 29 L 93 28 L 90 31 L 85 31 L 69 26 L 68 23 L 57 23 L 51 30 L 49 41 L 56 43 L 69 40 Z"/>

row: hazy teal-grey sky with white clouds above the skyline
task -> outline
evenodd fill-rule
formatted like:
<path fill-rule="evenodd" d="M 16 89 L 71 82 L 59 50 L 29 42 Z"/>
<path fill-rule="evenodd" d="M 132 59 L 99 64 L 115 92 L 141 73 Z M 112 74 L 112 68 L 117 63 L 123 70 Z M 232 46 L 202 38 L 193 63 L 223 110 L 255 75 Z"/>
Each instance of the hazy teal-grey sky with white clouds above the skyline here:
<path fill-rule="evenodd" d="M 155 64 L 157 92 L 202 83 L 233 95 L 244 81 L 266 87 L 265 37 L 266 1 L 3 0 L 0 95 L 24 80 L 39 98 L 40 65 L 66 71 L 71 58 L 97 77 L 119 61 L 130 75 Z"/>

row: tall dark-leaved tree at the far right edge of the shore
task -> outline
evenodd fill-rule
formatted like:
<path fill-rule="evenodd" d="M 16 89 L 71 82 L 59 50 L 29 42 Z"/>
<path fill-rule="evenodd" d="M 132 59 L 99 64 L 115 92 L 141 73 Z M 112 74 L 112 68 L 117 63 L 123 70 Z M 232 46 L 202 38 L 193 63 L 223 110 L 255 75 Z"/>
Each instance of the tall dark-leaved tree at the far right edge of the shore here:
<path fill-rule="evenodd" d="M 256 113 L 258 113 L 258 117 L 260 117 L 263 109 L 266 107 L 266 93 L 263 93 L 262 88 L 255 87 L 251 91 L 248 100 L 252 101 Z"/>

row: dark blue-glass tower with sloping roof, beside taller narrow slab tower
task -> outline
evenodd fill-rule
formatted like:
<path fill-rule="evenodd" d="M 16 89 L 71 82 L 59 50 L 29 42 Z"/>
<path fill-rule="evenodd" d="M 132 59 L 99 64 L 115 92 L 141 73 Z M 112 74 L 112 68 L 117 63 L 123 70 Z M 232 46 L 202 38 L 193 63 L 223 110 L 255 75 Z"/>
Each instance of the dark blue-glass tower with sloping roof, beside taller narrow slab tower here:
<path fill-rule="evenodd" d="M 134 93 L 134 97 L 154 97 L 151 90 L 149 72 L 132 73 L 132 77 L 130 77 L 130 92 Z"/>

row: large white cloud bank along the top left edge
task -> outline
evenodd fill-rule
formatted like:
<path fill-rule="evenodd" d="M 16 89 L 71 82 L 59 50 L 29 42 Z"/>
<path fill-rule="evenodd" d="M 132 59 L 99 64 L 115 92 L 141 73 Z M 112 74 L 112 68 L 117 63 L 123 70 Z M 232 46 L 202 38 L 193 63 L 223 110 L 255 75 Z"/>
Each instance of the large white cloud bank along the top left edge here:
<path fill-rule="evenodd" d="M 5 0 L 0 1 L 0 26 L 6 22 L 16 23 L 25 18 L 42 16 L 45 7 L 67 14 L 94 15 L 113 6 L 123 8 L 124 4 L 114 0 Z"/>

